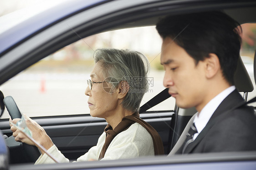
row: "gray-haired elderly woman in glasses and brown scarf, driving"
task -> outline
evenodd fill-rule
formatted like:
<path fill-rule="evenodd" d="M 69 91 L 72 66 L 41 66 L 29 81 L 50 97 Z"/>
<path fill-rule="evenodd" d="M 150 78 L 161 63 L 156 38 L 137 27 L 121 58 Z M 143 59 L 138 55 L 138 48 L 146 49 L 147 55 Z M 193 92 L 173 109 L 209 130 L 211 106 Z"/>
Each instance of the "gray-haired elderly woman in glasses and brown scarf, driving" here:
<path fill-rule="evenodd" d="M 108 125 L 99 137 L 97 145 L 77 161 L 115 160 L 163 154 L 163 144 L 157 132 L 138 118 L 139 105 L 148 87 L 145 81 L 149 66 L 146 57 L 136 51 L 98 49 L 94 54 L 94 61 L 85 95 L 89 96 L 90 115 L 104 118 Z M 135 77 L 139 81 L 133 81 Z M 52 143 L 45 130 L 29 117 L 26 119 L 33 138 L 56 160 L 69 162 Z M 12 123 L 17 121 L 19 119 L 14 119 Z M 11 130 L 16 141 L 35 145 L 14 126 L 11 126 Z M 40 151 L 42 155 L 36 164 L 54 163 L 43 150 Z"/>

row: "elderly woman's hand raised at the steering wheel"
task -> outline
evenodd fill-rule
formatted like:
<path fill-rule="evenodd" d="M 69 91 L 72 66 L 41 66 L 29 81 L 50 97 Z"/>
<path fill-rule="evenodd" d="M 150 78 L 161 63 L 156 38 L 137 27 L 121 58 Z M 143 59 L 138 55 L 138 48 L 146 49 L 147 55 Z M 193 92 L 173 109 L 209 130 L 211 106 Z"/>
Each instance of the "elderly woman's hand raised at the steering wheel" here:
<path fill-rule="evenodd" d="M 34 140 L 36 140 L 40 145 L 46 148 L 48 150 L 53 145 L 51 138 L 46 134 L 46 131 L 38 124 L 36 121 L 32 120 L 27 115 L 24 115 L 26 120 L 26 125 L 32 132 L 32 137 Z M 17 124 L 20 119 L 13 119 L 9 120 L 13 124 Z M 32 142 L 29 138 L 26 137 L 20 130 L 18 130 L 15 126 L 10 124 L 10 130 L 13 132 L 13 136 L 15 137 L 15 141 L 17 142 L 23 142 L 28 145 L 35 145 L 34 142 Z M 40 148 L 39 148 L 40 149 Z M 42 154 L 44 154 L 43 150 L 40 150 Z"/>

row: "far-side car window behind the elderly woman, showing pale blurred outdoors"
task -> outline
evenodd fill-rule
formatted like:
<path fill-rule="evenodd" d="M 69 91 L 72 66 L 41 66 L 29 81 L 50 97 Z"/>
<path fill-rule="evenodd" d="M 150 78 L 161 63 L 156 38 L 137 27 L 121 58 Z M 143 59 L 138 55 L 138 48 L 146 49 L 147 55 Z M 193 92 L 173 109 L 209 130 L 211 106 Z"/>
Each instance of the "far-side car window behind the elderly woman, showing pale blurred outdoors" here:
<path fill-rule="evenodd" d="M 132 35 L 132 36 L 131 36 Z M 149 89 L 141 105 L 164 90 L 160 65 L 161 38 L 155 26 L 114 30 L 79 40 L 47 56 L 0 86 L 5 96 L 15 99 L 20 111 L 30 117 L 89 114 L 84 94 L 97 48 L 138 50 L 150 63 Z M 151 111 L 174 110 L 169 98 Z M 9 118 L 7 110 L 1 118 Z"/>

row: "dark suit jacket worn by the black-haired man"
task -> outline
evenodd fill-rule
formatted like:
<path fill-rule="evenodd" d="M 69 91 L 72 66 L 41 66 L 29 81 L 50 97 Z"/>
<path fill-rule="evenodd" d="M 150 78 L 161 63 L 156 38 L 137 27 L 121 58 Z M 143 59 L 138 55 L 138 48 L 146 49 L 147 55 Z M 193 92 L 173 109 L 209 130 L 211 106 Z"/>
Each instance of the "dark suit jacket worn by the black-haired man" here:
<path fill-rule="evenodd" d="M 185 154 L 256 150 L 256 115 L 247 105 L 234 109 L 242 103 L 237 90 L 230 93 L 194 142 L 188 145 Z M 179 153 L 180 150 L 175 154 Z"/>

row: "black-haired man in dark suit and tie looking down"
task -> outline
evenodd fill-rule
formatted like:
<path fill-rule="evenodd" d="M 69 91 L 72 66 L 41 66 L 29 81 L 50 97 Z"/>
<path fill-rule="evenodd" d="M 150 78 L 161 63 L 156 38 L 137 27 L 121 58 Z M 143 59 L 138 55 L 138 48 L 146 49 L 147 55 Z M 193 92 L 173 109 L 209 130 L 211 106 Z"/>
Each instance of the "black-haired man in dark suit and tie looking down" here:
<path fill-rule="evenodd" d="M 256 116 L 234 86 L 241 26 L 222 12 L 167 16 L 164 86 L 180 108 L 198 111 L 171 154 L 256 150 Z"/>

